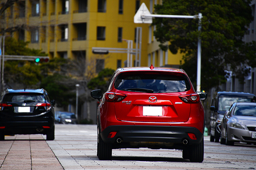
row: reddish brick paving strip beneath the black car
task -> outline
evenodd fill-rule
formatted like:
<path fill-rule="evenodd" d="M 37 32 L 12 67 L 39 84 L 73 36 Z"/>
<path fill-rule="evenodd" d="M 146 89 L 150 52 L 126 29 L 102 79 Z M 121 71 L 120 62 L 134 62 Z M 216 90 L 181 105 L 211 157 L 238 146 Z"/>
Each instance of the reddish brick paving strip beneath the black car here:
<path fill-rule="evenodd" d="M 5 136 L 0 141 L 1 170 L 63 170 L 42 135 Z"/>

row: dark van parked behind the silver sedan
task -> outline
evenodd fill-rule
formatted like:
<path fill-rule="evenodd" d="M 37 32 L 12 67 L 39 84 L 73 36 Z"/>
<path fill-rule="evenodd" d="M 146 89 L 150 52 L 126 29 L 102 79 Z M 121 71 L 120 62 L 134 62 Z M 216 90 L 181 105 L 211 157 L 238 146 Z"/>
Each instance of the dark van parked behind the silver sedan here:
<path fill-rule="evenodd" d="M 231 104 L 235 102 L 256 102 L 256 96 L 251 93 L 220 91 L 212 99 L 210 141 L 219 142 L 221 121 Z"/>

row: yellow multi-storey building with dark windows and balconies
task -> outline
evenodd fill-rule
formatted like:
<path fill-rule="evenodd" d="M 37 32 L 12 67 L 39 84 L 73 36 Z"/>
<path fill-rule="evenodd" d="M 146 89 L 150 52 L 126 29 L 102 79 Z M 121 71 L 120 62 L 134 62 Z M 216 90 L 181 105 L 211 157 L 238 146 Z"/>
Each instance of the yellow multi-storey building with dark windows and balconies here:
<path fill-rule="evenodd" d="M 1 1 L 2 2 L 2 1 Z M 162 0 L 24 0 L 5 11 L 5 24 L 28 25 L 12 34 L 30 41 L 29 48 L 42 49 L 50 58 L 83 57 L 94 61 L 96 71 L 102 68 L 125 67 L 127 53 L 92 53 L 92 47 L 127 48 L 126 40 L 136 47 L 136 27 L 142 28 L 141 66 L 180 65 L 181 55 L 172 55 L 159 48 L 150 24 L 135 24 L 133 17 L 142 3 L 153 13 L 154 4 Z M 8 16 L 8 17 L 7 17 Z M 135 56 L 132 59 L 135 65 Z"/>

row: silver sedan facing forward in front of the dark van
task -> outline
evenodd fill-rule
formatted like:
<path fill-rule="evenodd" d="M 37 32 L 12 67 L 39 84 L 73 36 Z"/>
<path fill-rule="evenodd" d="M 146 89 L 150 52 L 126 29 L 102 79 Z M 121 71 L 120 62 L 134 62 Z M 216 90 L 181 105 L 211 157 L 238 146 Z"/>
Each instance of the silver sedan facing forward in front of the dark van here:
<path fill-rule="evenodd" d="M 221 122 L 220 143 L 256 144 L 256 103 L 234 103 Z"/>

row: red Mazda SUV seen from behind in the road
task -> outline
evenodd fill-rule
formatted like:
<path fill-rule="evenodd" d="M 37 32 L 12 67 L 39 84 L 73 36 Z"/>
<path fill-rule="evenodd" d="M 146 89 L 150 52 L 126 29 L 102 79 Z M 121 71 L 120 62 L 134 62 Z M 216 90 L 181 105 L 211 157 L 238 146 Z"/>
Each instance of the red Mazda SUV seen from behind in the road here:
<path fill-rule="evenodd" d="M 182 69 L 126 67 L 117 69 L 97 111 L 100 160 L 111 160 L 112 149 L 152 148 L 182 150 L 182 157 L 202 162 L 204 108 L 207 98 L 195 92 Z"/>

